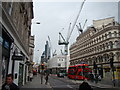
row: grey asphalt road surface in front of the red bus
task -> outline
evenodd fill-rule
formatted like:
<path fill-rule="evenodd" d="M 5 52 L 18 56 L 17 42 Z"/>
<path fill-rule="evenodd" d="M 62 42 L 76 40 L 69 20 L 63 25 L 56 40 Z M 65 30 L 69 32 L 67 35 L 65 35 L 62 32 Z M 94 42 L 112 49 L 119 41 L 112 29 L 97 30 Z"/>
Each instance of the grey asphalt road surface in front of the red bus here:
<path fill-rule="evenodd" d="M 53 90 L 79 90 L 79 84 L 73 83 L 72 80 L 56 76 L 49 77 L 49 83 Z M 93 90 L 118 90 L 114 88 L 98 88 L 91 86 Z"/>

